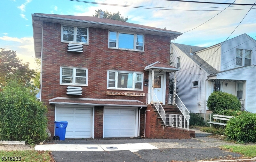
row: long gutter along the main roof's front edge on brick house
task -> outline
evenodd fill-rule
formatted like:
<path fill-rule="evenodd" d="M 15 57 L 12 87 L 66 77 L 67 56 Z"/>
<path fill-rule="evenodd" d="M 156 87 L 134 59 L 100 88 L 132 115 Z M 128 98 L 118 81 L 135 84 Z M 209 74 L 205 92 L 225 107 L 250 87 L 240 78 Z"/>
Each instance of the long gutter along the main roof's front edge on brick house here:
<path fill-rule="evenodd" d="M 60 20 L 68 20 L 68 21 L 77 21 L 77 22 L 84 22 L 84 23 L 91 23 L 91 24 L 98 24 L 98 25 L 107 25 L 107 26 L 118 26 L 118 27 L 125 27 L 125 28 L 132 28 L 132 29 L 140 29 L 140 30 L 148 30 L 153 32 L 161 32 L 161 33 L 169 33 L 169 34 L 179 34 L 182 35 L 180 32 L 168 32 L 164 30 L 157 30 L 157 29 L 148 29 L 143 27 L 133 27 L 133 26 L 127 26 L 127 25 L 118 25 L 118 24 L 109 24 L 109 23 L 102 23 L 102 22 L 94 22 L 94 21 L 87 21 L 87 20 L 78 20 L 78 19 L 72 19 L 72 18 L 60 18 L 60 17 L 54 17 L 54 16 L 46 16 L 46 15 L 37 15 L 32 14 L 32 16 L 42 17 L 42 18 L 53 18 L 53 19 L 60 19 Z"/>

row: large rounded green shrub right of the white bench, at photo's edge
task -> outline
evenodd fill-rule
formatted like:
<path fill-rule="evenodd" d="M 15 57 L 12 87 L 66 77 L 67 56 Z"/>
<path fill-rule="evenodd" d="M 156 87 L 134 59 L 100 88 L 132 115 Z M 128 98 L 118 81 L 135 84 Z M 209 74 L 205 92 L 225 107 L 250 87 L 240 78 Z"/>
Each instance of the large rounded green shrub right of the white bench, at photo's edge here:
<path fill-rule="evenodd" d="M 242 112 L 231 118 L 226 126 L 226 134 L 228 140 L 256 142 L 256 114 Z"/>

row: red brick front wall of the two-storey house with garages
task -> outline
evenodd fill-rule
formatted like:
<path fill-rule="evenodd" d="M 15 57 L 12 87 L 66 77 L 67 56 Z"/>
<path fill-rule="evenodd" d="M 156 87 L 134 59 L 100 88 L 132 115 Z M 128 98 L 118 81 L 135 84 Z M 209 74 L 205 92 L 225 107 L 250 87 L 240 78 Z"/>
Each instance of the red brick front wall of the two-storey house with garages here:
<path fill-rule="evenodd" d="M 55 97 L 79 97 L 94 99 L 136 99 L 142 102 L 146 97 L 106 95 L 107 91 L 148 93 L 148 86 L 143 91 L 124 91 L 107 89 L 107 70 L 126 70 L 143 72 L 144 68 L 159 61 L 169 65 L 170 37 L 145 34 L 145 52 L 108 48 L 108 30 L 89 27 L 89 45 L 84 45 L 82 54 L 68 53 L 67 44 L 61 42 L 61 24 L 43 22 L 42 54 L 42 95 L 41 99 L 48 107 L 48 128 L 54 133 L 55 105 L 49 99 Z M 83 95 L 66 95 L 67 85 L 60 85 L 60 66 L 88 68 L 88 86 L 83 88 Z M 169 89 L 169 72 L 166 74 L 166 101 Z M 144 82 L 142 83 L 144 85 Z M 95 107 L 94 137 L 102 138 L 103 107 Z M 140 136 L 144 135 L 144 112 L 141 111 Z M 157 121 L 156 121 L 157 122 Z M 163 132 L 156 130 L 156 132 Z M 154 135 L 156 136 L 156 135 Z"/>

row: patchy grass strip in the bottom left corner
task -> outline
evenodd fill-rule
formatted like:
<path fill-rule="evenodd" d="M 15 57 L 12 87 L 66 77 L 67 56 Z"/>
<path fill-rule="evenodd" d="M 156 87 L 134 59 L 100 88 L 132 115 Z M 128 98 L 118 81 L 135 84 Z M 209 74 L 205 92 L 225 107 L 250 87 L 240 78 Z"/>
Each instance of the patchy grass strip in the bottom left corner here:
<path fill-rule="evenodd" d="M 0 161 L 2 157 L 21 157 L 25 162 L 54 162 L 50 151 L 0 151 L 0 155 Z"/>

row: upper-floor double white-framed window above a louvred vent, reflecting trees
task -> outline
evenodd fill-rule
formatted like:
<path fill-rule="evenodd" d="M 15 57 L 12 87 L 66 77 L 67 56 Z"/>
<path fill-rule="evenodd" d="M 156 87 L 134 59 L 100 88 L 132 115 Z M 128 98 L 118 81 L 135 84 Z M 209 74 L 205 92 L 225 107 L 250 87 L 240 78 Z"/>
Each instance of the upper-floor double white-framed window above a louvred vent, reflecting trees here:
<path fill-rule="evenodd" d="M 61 26 L 61 41 L 88 44 L 88 28 L 78 26 Z"/>

